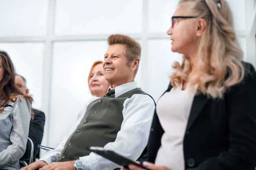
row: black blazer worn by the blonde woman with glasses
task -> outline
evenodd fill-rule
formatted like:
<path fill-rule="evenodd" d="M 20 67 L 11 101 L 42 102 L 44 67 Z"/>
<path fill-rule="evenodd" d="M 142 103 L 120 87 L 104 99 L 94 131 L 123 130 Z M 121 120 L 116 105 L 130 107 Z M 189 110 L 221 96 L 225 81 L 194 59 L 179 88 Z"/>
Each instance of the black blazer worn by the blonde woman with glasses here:
<path fill-rule="evenodd" d="M 256 73 L 251 64 L 245 64 L 245 68 L 243 82 L 232 86 L 222 99 L 206 95 L 194 97 L 184 132 L 186 170 L 255 168 Z M 166 92 L 171 88 L 169 85 Z M 150 162 L 155 162 L 163 133 L 155 112 L 148 141 Z"/>

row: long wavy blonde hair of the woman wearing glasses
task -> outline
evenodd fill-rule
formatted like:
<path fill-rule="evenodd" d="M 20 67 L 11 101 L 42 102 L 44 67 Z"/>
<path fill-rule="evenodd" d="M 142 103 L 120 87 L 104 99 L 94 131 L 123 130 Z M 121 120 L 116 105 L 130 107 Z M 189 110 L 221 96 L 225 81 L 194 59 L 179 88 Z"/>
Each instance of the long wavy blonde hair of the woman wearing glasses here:
<path fill-rule="evenodd" d="M 171 84 L 188 81 L 199 85 L 197 94 L 221 98 L 230 86 L 241 82 L 245 72 L 231 9 L 225 0 L 180 0 L 179 4 L 183 2 L 193 2 L 194 15 L 203 18 L 207 28 L 199 40 L 195 73 L 191 73 L 189 57 L 183 55 L 182 64 L 173 63 Z"/>

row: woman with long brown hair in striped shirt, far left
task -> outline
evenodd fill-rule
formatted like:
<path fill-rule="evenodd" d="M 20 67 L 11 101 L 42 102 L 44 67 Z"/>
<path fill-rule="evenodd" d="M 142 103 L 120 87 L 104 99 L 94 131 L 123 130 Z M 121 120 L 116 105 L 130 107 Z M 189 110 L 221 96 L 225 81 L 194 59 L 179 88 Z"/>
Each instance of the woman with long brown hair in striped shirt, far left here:
<path fill-rule="evenodd" d="M 29 133 L 31 101 L 15 85 L 15 69 L 9 55 L 0 51 L 0 169 L 18 170 Z"/>

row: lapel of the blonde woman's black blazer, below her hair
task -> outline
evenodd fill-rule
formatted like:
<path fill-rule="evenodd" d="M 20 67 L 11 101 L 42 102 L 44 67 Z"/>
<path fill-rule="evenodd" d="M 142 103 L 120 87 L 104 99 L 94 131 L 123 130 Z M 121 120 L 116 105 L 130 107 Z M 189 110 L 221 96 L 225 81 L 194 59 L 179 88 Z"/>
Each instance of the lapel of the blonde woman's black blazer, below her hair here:
<path fill-rule="evenodd" d="M 194 97 L 186 130 L 189 130 L 208 100 L 207 95 L 196 95 Z"/>

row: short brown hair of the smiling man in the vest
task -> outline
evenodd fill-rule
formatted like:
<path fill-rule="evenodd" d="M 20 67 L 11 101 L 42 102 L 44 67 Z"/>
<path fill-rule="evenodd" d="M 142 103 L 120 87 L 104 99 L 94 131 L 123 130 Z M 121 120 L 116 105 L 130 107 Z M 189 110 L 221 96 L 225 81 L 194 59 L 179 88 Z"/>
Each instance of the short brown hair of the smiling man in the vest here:
<path fill-rule="evenodd" d="M 126 58 L 128 60 L 128 66 L 130 66 L 131 62 L 136 58 L 140 59 L 141 46 L 139 42 L 137 42 L 135 39 L 130 38 L 127 35 L 112 34 L 108 37 L 108 45 L 110 46 L 113 44 L 123 44 L 126 46 L 124 54 L 126 55 Z M 134 76 L 137 74 L 138 68 L 139 65 L 135 70 Z"/>

